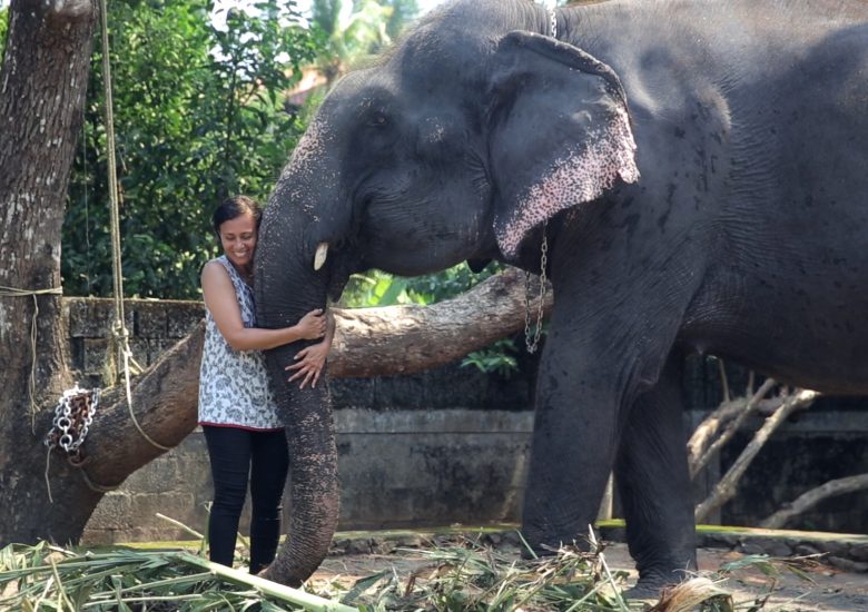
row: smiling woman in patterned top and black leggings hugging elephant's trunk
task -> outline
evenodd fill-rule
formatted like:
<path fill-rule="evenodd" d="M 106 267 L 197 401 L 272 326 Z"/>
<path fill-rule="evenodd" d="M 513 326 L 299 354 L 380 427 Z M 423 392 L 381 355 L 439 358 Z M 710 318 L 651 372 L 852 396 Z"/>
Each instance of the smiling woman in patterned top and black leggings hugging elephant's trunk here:
<path fill-rule="evenodd" d="M 250 573 L 275 556 L 280 535 L 280 497 L 288 470 L 284 424 L 268 389 L 260 351 L 299 339 L 325 339 L 296 355 L 290 381 L 315 385 L 332 344 L 333 326 L 322 309 L 292 327 L 256 327 L 253 261 L 262 209 L 237 196 L 211 218 L 224 255 L 203 268 L 206 332 L 199 374 L 199 425 L 205 432 L 214 480 L 208 540 L 210 560 L 231 565 L 238 520 L 250 501 Z"/>

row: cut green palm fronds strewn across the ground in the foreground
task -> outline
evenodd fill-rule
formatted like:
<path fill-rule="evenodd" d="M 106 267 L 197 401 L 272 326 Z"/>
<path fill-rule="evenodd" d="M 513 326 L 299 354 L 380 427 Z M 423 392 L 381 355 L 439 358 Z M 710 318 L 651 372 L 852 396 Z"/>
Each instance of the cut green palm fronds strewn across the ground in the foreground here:
<path fill-rule="evenodd" d="M 183 550 L 115 549 L 77 553 L 47 543 L 0 550 L 0 610 L 24 611 L 618 611 L 647 610 L 622 593 L 628 573 L 612 571 L 604 544 L 593 552 L 563 546 L 539 559 L 483 546 L 471 539 L 398 550 L 389 566 L 347 585 L 312 581 L 316 594 L 210 563 Z M 408 569 L 397 565 L 412 557 Z M 782 571 L 807 576 L 811 559 L 751 555 L 667 592 L 652 610 L 766 610 Z M 767 593 L 733 602 L 724 581 L 744 571 L 769 576 Z M 308 590 L 312 586 L 308 586 Z M 341 603 L 338 603 L 338 600 Z"/>

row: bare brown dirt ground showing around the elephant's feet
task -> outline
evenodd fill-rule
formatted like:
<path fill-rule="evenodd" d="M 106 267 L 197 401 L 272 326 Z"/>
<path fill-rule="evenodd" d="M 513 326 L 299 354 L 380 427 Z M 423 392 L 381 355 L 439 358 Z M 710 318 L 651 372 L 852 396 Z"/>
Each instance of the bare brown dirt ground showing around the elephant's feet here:
<path fill-rule="evenodd" d="M 610 569 L 630 571 L 627 586 L 632 585 L 635 572 L 627 545 L 608 544 L 603 554 Z M 517 559 L 517 550 L 515 555 Z M 701 549 L 698 556 L 701 572 L 714 572 L 726 563 L 744 555 L 732 551 Z M 420 552 L 407 549 L 383 554 L 341 554 L 326 559 L 312 580 L 314 585 L 318 581 L 339 581 L 348 586 L 359 578 L 389 569 L 406 580 L 413 572 L 423 570 L 426 564 L 431 565 L 431 561 Z M 808 566 L 805 573 L 809 580 L 786 570 L 775 576 L 768 576 L 753 567 L 739 571 L 721 586 L 732 594 L 737 610 L 750 609 L 751 602 L 771 591 L 763 611 L 868 612 L 868 574 L 841 571 L 823 563 Z"/>

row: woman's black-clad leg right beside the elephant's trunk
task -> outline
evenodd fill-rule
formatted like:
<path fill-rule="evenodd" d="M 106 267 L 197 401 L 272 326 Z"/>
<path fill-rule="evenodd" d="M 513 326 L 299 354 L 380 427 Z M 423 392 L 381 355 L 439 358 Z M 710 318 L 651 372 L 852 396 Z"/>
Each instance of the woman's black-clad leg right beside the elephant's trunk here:
<path fill-rule="evenodd" d="M 251 455 L 250 573 L 255 574 L 274 561 L 280 537 L 280 499 L 289 468 L 286 435 L 254 433 Z"/>

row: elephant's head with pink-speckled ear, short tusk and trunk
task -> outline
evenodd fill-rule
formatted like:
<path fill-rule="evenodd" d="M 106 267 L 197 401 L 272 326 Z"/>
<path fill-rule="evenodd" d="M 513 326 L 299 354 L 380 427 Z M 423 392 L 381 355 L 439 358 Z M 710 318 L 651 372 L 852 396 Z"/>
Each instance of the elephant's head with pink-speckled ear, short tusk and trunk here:
<path fill-rule="evenodd" d="M 492 257 L 531 266 L 545 219 L 599 198 L 619 176 L 637 178 L 618 78 L 534 33 L 546 30 L 532 2 L 465 0 L 337 85 L 265 213 L 260 325 L 292 325 L 371 267 L 415 275 Z M 284 382 L 296 349 L 268 357 L 294 487 L 292 540 L 273 575 L 289 581 L 318 565 L 337 520 L 327 398 Z"/>

